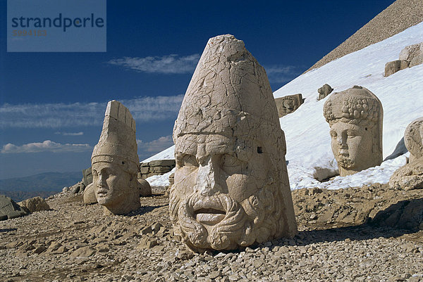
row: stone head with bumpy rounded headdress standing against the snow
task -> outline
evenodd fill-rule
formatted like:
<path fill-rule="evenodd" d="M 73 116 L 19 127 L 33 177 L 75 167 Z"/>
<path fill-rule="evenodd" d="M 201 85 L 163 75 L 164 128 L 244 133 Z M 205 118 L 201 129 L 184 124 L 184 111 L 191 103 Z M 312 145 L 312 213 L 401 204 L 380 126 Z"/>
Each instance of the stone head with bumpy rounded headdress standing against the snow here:
<path fill-rule="evenodd" d="M 381 164 L 384 111 L 379 98 L 353 86 L 329 96 L 323 111 L 341 177 Z"/>

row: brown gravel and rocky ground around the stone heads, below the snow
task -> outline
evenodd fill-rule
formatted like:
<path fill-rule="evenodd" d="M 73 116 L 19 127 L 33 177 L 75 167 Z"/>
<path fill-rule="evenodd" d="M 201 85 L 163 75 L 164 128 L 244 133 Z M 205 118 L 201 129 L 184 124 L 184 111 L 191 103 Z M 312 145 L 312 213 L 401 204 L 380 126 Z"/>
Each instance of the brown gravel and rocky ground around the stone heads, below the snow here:
<path fill-rule="evenodd" d="M 59 193 L 50 211 L 0 222 L 0 281 L 423 281 L 423 190 L 301 189 L 293 201 L 295 238 L 192 254 L 164 193 L 109 217 Z"/>

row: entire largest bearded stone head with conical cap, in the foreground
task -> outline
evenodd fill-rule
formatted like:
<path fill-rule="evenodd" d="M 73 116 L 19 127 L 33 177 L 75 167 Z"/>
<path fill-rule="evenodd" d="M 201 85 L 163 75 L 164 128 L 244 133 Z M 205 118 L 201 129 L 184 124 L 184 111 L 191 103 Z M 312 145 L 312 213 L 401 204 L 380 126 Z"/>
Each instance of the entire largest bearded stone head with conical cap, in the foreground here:
<path fill-rule="evenodd" d="M 297 232 L 286 143 L 266 72 L 232 35 L 209 39 L 173 128 L 169 209 L 195 251 Z"/>

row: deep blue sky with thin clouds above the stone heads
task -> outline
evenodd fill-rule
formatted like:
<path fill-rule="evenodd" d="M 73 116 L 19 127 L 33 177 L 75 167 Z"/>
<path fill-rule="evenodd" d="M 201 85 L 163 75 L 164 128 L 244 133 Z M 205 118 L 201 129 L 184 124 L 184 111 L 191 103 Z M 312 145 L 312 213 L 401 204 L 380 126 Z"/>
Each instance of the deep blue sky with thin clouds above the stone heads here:
<path fill-rule="evenodd" d="M 210 37 L 242 39 L 276 91 L 393 0 L 145 2 L 107 1 L 103 53 L 8 53 L 1 25 L 0 179 L 89 167 L 113 99 L 135 117 L 140 160 L 148 158 L 172 145 Z M 5 0 L 0 13 L 5 23 Z"/>

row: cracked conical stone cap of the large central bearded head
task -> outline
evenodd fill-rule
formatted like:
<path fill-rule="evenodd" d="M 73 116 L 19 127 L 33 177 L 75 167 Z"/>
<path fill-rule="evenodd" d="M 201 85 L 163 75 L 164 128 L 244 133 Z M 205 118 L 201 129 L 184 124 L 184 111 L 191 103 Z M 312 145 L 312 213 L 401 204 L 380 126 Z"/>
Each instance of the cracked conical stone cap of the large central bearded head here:
<path fill-rule="evenodd" d="M 264 68 L 233 35 L 209 39 L 185 93 L 173 139 L 197 132 L 240 137 L 259 128 L 281 132 Z"/>

